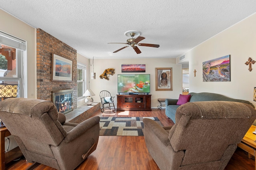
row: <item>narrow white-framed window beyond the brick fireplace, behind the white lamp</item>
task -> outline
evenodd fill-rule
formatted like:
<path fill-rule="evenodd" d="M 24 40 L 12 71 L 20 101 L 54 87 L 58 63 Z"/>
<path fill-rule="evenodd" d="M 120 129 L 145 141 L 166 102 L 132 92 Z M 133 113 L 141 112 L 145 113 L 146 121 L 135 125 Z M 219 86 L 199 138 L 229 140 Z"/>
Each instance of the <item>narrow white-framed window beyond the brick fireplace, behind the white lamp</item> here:
<path fill-rule="evenodd" d="M 77 99 L 84 99 L 86 89 L 86 65 L 77 63 Z"/>

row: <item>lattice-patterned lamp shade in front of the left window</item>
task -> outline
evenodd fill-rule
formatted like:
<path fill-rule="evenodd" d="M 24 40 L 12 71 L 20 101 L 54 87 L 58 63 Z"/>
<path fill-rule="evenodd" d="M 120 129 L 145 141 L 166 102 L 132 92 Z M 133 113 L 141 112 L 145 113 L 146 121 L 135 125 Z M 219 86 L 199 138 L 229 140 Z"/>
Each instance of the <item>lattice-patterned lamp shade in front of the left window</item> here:
<path fill-rule="evenodd" d="M 18 96 L 18 85 L 10 85 L 7 83 L 0 83 L 0 97 L 9 98 Z"/>

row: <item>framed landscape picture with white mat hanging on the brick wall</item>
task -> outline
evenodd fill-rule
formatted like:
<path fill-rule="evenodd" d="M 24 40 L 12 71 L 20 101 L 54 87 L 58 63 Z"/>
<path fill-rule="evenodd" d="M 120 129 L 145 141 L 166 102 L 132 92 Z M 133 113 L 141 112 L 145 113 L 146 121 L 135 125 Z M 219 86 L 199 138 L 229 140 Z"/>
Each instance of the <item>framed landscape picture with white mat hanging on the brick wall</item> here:
<path fill-rule="evenodd" d="M 52 81 L 69 81 L 72 82 L 73 61 L 52 55 Z"/>

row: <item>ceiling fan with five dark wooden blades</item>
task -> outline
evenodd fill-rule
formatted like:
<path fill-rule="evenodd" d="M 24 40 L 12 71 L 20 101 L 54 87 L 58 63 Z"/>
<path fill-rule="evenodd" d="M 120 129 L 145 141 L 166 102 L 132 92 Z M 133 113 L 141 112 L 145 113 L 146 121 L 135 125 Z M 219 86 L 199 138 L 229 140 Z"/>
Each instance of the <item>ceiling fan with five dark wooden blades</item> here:
<path fill-rule="evenodd" d="M 134 51 L 137 53 L 137 54 L 139 54 L 139 53 L 141 53 L 141 51 L 140 51 L 140 49 L 137 47 L 137 46 L 135 46 L 135 45 L 139 45 L 139 46 L 146 46 L 146 47 L 156 47 L 156 48 L 158 48 L 160 45 L 158 45 L 158 44 L 151 44 L 151 43 L 139 43 L 141 40 L 144 40 L 145 38 L 144 37 L 140 37 L 139 35 L 140 35 L 140 32 L 137 32 L 137 31 L 128 31 L 128 32 L 125 32 L 124 33 L 126 36 L 128 36 L 128 34 L 130 34 L 130 36 L 132 37 L 132 38 L 129 38 L 128 40 L 126 40 L 126 43 L 123 43 L 123 44 L 128 44 L 127 46 L 125 46 L 125 47 L 122 47 L 122 48 L 120 48 L 120 49 L 118 49 L 118 50 L 116 50 L 116 51 L 114 51 L 113 53 L 116 53 L 116 52 L 118 52 L 118 51 L 120 51 L 120 50 L 122 50 L 122 49 L 125 49 L 126 47 L 129 47 L 129 46 L 131 46 L 133 49 L 134 49 Z M 134 36 L 138 36 L 137 38 L 133 38 Z"/>

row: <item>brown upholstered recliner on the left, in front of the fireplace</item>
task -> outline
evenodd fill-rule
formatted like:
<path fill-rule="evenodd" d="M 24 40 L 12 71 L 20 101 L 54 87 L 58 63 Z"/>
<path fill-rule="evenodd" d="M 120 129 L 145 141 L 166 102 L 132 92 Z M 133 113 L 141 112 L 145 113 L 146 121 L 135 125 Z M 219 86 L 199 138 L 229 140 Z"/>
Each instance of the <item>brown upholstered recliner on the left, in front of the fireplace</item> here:
<path fill-rule="evenodd" d="M 65 116 L 58 115 L 49 101 L 10 98 L 0 102 L 0 119 L 28 162 L 73 170 L 96 149 L 100 117 L 76 124 L 64 123 Z"/>

